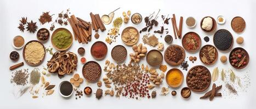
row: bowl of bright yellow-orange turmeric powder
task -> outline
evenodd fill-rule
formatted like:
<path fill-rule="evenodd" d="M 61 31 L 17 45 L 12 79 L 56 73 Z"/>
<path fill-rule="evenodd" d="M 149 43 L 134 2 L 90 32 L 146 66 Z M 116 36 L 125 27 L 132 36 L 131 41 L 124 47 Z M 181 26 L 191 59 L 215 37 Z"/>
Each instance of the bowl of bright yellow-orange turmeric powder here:
<path fill-rule="evenodd" d="M 169 86 L 178 87 L 178 85 L 183 81 L 183 75 L 179 69 L 172 69 L 168 72 L 166 80 Z"/>

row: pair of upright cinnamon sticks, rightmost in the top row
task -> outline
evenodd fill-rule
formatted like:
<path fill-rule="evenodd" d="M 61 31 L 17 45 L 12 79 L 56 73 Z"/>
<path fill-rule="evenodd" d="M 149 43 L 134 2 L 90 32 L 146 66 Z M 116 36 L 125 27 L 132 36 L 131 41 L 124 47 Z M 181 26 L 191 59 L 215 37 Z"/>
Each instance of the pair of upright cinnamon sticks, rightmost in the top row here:
<path fill-rule="evenodd" d="M 182 34 L 182 26 L 183 26 L 183 17 L 180 16 L 180 23 L 179 23 L 179 29 L 178 29 L 177 23 L 176 23 L 175 14 L 173 14 L 172 25 L 173 25 L 173 33 L 174 33 L 175 39 L 177 39 L 177 36 L 178 36 L 178 38 L 181 39 L 181 36 L 182 36 L 181 35 Z"/>

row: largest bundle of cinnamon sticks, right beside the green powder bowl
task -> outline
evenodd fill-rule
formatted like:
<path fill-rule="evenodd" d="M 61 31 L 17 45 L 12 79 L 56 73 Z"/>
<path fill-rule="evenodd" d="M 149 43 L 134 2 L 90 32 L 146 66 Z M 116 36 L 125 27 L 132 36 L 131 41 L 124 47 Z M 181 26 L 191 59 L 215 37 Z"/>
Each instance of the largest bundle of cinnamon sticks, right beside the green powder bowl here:
<path fill-rule="evenodd" d="M 75 40 L 78 40 L 78 43 L 86 43 L 92 40 L 92 24 L 90 22 L 84 21 L 75 15 L 71 15 L 67 19 L 73 29 L 73 34 Z"/>

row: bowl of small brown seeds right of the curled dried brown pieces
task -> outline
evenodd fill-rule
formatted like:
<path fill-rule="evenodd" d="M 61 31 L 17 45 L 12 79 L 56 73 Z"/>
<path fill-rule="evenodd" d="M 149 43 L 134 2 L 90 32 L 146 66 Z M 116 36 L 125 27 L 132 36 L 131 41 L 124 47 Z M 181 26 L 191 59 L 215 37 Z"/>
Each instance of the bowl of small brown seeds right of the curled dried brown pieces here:
<path fill-rule="evenodd" d="M 87 81 L 96 81 L 101 75 L 101 68 L 98 63 L 88 62 L 83 66 L 83 76 Z"/>

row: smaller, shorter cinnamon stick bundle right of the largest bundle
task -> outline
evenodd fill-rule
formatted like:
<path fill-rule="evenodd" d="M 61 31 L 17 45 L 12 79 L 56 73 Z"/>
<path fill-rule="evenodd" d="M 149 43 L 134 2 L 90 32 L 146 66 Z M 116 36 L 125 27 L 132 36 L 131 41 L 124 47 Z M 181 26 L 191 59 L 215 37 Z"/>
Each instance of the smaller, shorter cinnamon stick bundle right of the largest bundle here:
<path fill-rule="evenodd" d="M 100 29 L 101 32 L 106 30 L 99 14 L 94 15 L 93 13 L 90 13 L 90 18 L 92 19 L 92 27 L 95 32 L 98 32 L 98 29 Z"/>

